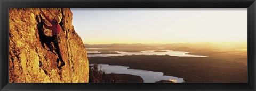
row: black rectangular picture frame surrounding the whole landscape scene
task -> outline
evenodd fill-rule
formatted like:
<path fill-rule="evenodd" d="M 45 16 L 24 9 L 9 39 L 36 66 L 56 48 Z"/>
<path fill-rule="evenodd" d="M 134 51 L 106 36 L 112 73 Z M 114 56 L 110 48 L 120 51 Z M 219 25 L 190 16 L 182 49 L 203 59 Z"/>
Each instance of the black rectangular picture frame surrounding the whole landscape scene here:
<path fill-rule="evenodd" d="M 0 90 L 255 90 L 255 0 L 0 0 Z M 8 8 L 247 8 L 248 82 L 190 83 L 8 83 Z"/>

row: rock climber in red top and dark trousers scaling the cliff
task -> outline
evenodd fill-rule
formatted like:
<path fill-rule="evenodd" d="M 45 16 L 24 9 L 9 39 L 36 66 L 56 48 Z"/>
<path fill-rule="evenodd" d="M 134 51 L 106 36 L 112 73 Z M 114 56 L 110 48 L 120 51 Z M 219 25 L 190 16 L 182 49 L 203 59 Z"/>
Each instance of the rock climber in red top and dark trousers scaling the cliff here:
<path fill-rule="evenodd" d="M 59 64 L 59 60 L 57 60 L 57 67 L 61 68 L 62 66 L 65 66 L 65 62 L 63 61 L 63 57 L 62 57 L 62 52 L 60 50 L 60 25 L 59 23 L 61 22 L 61 19 L 59 16 L 55 16 L 54 19 L 50 20 L 49 17 L 47 15 L 45 15 L 44 12 L 42 12 L 42 14 L 44 15 L 45 19 L 51 23 L 52 26 L 47 26 L 43 20 L 43 25 L 46 29 L 50 29 L 52 30 L 52 36 L 45 36 L 45 40 L 49 41 L 49 42 L 53 42 L 54 47 L 49 48 L 50 50 L 55 50 L 55 52 L 57 53 L 59 60 L 61 61 L 60 66 L 58 67 Z"/>

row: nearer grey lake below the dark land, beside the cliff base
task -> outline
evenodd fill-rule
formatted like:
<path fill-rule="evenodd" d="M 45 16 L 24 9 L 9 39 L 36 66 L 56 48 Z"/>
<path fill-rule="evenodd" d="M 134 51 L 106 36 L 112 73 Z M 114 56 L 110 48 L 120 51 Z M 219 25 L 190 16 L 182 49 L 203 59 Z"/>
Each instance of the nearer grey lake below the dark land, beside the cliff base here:
<path fill-rule="evenodd" d="M 93 64 L 90 64 L 89 66 L 93 66 Z M 160 81 L 160 80 L 169 80 L 175 83 L 184 82 L 183 78 L 178 78 L 173 76 L 164 76 L 163 72 L 129 69 L 129 67 L 126 67 L 126 66 L 98 64 L 98 70 L 104 70 L 106 74 L 115 73 L 115 74 L 131 74 L 131 75 L 140 76 L 141 78 L 143 78 L 144 83 L 155 83 L 156 81 Z"/>

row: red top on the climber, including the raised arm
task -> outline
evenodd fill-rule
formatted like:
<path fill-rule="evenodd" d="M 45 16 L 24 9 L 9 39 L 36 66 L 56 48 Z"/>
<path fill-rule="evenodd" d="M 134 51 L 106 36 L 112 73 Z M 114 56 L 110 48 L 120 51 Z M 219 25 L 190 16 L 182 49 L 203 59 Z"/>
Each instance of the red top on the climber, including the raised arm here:
<path fill-rule="evenodd" d="M 59 34 L 60 33 L 60 25 L 57 22 L 51 21 L 48 16 L 44 15 L 44 17 L 47 19 L 47 21 L 49 21 L 52 24 L 52 26 L 47 26 L 44 23 L 44 27 L 47 28 L 47 29 L 52 30 L 52 35 Z"/>

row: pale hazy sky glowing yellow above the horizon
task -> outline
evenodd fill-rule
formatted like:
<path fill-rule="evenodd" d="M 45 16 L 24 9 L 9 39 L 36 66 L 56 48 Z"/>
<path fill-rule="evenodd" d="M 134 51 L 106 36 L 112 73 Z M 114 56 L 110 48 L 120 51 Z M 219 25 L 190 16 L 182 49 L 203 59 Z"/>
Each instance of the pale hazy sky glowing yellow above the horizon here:
<path fill-rule="evenodd" d="M 76 8 L 86 44 L 247 42 L 247 9 Z"/>

